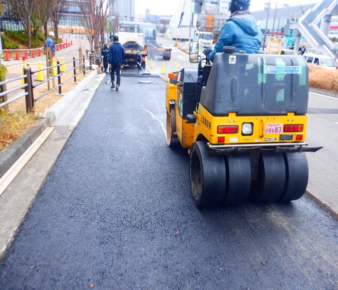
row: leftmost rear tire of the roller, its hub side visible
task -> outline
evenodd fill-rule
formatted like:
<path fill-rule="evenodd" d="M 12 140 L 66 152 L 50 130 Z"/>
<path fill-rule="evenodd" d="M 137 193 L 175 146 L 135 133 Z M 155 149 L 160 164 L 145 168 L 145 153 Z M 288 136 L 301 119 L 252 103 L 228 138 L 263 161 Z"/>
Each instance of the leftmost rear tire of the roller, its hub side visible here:
<path fill-rule="evenodd" d="M 196 207 L 220 206 L 226 189 L 223 156 L 209 156 L 205 141 L 193 142 L 189 157 L 191 196 Z"/>

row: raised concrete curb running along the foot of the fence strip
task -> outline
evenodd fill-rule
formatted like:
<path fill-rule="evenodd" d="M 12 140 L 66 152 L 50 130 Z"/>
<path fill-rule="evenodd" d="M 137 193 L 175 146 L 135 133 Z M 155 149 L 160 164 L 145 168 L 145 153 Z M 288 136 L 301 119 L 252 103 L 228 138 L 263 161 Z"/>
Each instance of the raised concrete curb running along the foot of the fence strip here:
<path fill-rule="evenodd" d="M 26 132 L 17 142 L 0 153 L 0 178 L 12 167 L 13 164 L 24 154 L 40 134 L 51 126 L 55 120 L 67 109 L 73 100 L 84 90 L 84 88 L 96 77 L 97 70 L 91 72 L 73 89 L 66 93 L 59 101 L 48 109 L 46 117 Z"/>

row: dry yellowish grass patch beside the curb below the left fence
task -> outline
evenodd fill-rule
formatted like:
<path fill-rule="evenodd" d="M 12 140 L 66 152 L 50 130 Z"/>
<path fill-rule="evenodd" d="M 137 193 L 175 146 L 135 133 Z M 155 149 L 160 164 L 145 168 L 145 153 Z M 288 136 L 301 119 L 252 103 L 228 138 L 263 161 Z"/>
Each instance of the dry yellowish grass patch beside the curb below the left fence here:
<path fill-rule="evenodd" d="M 18 140 L 30 127 L 37 124 L 39 117 L 20 111 L 7 112 L 0 108 L 0 151 Z"/>

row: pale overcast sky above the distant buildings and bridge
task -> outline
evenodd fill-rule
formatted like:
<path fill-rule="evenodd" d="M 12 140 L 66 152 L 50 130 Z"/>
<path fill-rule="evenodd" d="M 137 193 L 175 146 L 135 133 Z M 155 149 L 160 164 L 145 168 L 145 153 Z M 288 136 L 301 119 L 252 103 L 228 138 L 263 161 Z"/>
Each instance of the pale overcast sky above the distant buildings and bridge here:
<path fill-rule="evenodd" d="M 150 9 L 150 14 L 157 15 L 173 15 L 177 9 L 177 6 L 182 0 L 135 0 L 135 13 L 145 15 L 146 9 Z M 269 0 L 252 0 L 250 10 L 259 11 L 264 9 L 264 3 Z M 283 4 L 290 6 L 306 5 L 310 3 L 316 3 L 315 0 L 280 0 L 278 1 L 278 7 Z M 276 7 L 276 0 L 271 0 L 271 7 Z"/>

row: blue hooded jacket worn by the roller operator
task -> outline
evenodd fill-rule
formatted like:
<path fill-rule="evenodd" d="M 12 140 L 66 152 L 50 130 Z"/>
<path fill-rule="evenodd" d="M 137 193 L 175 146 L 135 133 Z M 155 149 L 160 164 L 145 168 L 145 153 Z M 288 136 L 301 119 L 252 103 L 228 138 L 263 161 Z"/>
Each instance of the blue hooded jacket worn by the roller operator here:
<path fill-rule="evenodd" d="M 223 46 L 234 46 L 236 52 L 244 50 L 246 53 L 259 53 L 262 38 L 253 16 L 246 11 L 237 12 L 224 23 L 209 59 L 213 61 L 215 54 L 223 51 Z"/>

